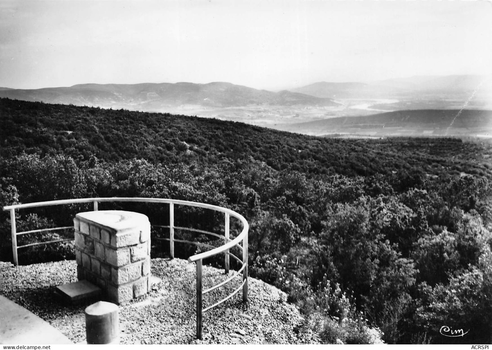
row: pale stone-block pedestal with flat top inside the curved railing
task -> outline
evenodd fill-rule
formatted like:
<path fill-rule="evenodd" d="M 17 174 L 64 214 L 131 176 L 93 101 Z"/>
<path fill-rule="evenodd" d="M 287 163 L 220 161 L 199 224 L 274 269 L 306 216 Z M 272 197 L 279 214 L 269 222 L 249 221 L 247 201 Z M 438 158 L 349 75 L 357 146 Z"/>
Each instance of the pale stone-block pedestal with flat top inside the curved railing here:
<path fill-rule="evenodd" d="M 151 225 L 146 215 L 123 210 L 78 213 L 73 220 L 77 277 L 122 304 L 149 292 Z"/>

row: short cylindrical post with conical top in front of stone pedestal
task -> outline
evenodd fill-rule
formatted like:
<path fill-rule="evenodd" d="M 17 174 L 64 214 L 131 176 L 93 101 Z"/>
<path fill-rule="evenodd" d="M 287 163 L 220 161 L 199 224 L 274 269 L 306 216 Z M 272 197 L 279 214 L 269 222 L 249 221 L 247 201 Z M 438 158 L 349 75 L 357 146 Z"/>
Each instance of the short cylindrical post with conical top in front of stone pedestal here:
<path fill-rule="evenodd" d="M 118 305 L 98 301 L 85 310 L 87 344 L 120 344 Z"/>

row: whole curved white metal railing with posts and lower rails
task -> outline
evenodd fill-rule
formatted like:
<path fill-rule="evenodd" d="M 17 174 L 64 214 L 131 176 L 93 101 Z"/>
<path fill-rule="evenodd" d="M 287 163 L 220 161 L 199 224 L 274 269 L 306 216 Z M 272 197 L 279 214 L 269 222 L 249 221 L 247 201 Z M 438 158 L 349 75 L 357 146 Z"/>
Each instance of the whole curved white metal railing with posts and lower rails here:
<path fill-rule="evenodd" d="M 82 198 L 82 199 L 69 199 L 69 200 L 58 200 L 58 201 L 49 201 L 49 202 L 37 202 L 37 203 L 28 203 L 28 204 L 15 204 L 15 205 L 7 205 L 3 207 L 3 210 L 9 210 L 10 211 L 10 225 L 11 225 L 11 233 L 12 233 L 12 253 L 13 253 L 13 260 L 14 264 L 18 265 L 18 252 L 17 250 L 20 248 L 25 248 L 29 246 L 35 246 L 35 245 L 44 245 L 44 244 L 50 244 L 50 243 L 55 243 L 55 242 L 63 242 L 63 241 L 71 241 L 71 239 L 58 239 L 58 240 L 51 240 L 51 241 L 45 241 L 45 242 L 36 242 L 36 243 L 30 243 L 30 244 L 24 244 L 24 245 L 17 245 L 17 236 L 22 235 L 22 234 L 28 234 L 28 233 L 40 233 L 40 232 L 49 232 L 49 231 L 62 231 L 62 230 L 67 230 L 73 228 L 73 226 L 64 226 L 64 227 L 56 227 L 56 228 L 48 228 L 48 229 L 38 229 L 38 230 L 30 230 L 30 231 L 24 231 L 24 232 L 17 232 L 16 231 L 16 222 L 15 222 L 15 210 L 18 209 L 25 209 L 25 208 L 35 208 L 35 207 L 44 207 L 44 206 L 51 206 L 51 205 L 63 205 L 63 204 L 82 204 L 82 203 L 92 203 L 94 211 L 98 210 L 98 204 L 102 202 L 140 202 L 140 203 L 158 203 L 158 204 L 169 204 L 169 225 L 168 226 L 162 226 L 162 225 L 153 225 L 153 227 L 158 227 L 158 228 L 165 228 L 169 229 L 169 238 L 160 238 L 164 240 L 169 241 L 169 254 L 171 258 L 174 258 L 174 243 L 175 242 L 182 242 L 182 243 L 188 243 L 188 244 L 195 244 L 197 246 L 204 246 L 208 248 L 212 248 L 209 251 L 195 254 L 191 257 L 188 258 L 188 262 L 195 262 L 196 263 L 196 337 L 198 339 L 202 339 L 202 329 L 203 329 L 203 313 L 207 312 L 208 310 L 214 308 L 215 306 L 223 303 L 224 301 L 230 299 L 232 296 L 234 296 L 236 293 L 243 290 L 243 302 L 247 301 L 247 274 L 248 274 L 248 269 L 247 269 L 247 256 L 248 256 L 248 248 L 247 248 L 247 240 L 248 240 L 248 223 L 246 219 L 239 213 L 221 207 L 217 205 L 212 205 L 212 204 L 204 204 L 204 203 L 198 203 L 198 202 L 189 202 L 189 201 L 181 201 L 181 200 L 173 200 L 173 199 L 162 199 L 162 198 L 121 198 L 121 197 L 113 197 L 113 198 Z M 224 235 L 220 235 L 217 233 L 205 231 L 205 230 L 198 230 L 194 228 L 187 228 L 187 227 L 181 227 L 181 226 L 175 226 L 174 225 L 174 209 L 175 205 L 185 205 L 185 206 L 192 206 L 192 207 L 199 207 L 199 208 L 204 208 L 204 209 L 211 209 L 214 211 L 222 212 L 224 213 Z M 234 239 L 230 239 L 230 217 L 235 217 L 238 219 L 242 226 L 243 230 L 238 234 L 237 237 Z M 183 231 L 188 231 L 188 232 L 193 232 L 193 233 L 201 233 L 201 234 L 207 234 L 211 236 L 215 236 L 220 239 L 224 239 L 224 244 L 215 247 L 210 244 L 202 243 L 202 242 L 194 242 L 194 241 L 188 241 L 184 239 L 176 239 L 174 238 L 174 233 L 175 230 L 183 230 Z M 240 244 L 242 242 L 242 244 Z M 230 252 L 231 248 L 237 247 L 239 248 L 242 253 L 242 259 L 234 255 L 232 252 Z M 211 258 L 214 257 L 218 254 L 224 253 L 224 269 L 225 272 L 229 272 L 229 257 L 234 258 L 236 261 L 238 261 L 241 264 L 241 268 L 238 271 L 235 271 L 235 273 L 227 278 L 225 281 L 209 288 L 206 289 L 205 291 L 203 290 L 203 279 L 202 279 L 202 261 L 203 259 Z M 241 285 L 233 291 L 231 294 L 226 296 L 225 298 L 219 300 L 215 304 L 203 308 L 203 295 L 212 292 L 217 288 L 220 288 L 224 286 L 225 284 L 231 282 L 239 276 L 240 274 L 243 275 L 243 282 Z"/>

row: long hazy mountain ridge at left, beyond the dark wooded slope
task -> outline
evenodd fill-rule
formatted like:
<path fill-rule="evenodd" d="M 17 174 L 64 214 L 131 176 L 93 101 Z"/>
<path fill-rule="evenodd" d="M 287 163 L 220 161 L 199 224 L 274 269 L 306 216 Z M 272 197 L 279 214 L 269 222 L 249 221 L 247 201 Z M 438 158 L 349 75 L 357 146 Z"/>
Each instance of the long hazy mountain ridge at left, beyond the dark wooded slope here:
<path fill-rule="evenodd" d="M 337 106 L 330 98 L 298 92 L 272 92 L 231 83 L 79 84 L 72 87 L 0 90 L 0 97 L 48 103 L 158 110 L 171 106 L 230 107 L 247 105 Z"/>

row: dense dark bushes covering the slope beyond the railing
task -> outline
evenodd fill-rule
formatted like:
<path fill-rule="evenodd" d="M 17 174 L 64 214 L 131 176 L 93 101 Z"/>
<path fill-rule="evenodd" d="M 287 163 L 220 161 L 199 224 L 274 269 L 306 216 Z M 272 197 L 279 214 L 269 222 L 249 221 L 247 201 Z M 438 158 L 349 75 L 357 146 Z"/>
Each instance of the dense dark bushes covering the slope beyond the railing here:
<path fill-rule="evenodd" d="M 491 146 L 321 139 L 216 119 L 0 102 L 0 205 L 138 196 L 226 206 L 250 224 L 250 275 L 287 292 L 326 342 L 368 343 L 377 328 L 388 343 L 492 341 Z M 21 211 L 19 230 L 70 225 L 88 207 L 64 209 Z M 154 222 L 167 215 L 136 209 Z M 220 222 L 200 212 L 177 220 Z M 22 263 L 73 258 L 69 243 L 20 254 Z M 445 337 L 444 325 L 468 333 Z"/>

